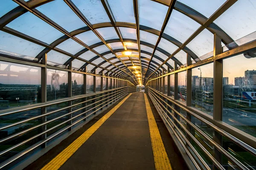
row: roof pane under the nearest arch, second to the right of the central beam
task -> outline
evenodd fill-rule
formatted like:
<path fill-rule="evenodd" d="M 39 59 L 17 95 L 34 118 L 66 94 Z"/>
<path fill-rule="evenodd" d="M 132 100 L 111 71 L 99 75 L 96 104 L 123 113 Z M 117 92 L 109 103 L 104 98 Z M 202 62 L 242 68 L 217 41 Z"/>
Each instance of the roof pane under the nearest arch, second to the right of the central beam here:
<path fill-rule="evenodd" d="M 180 42 L 185 42 L 201 25 L 186 15 L 172 10 L 164 33 Z"/>

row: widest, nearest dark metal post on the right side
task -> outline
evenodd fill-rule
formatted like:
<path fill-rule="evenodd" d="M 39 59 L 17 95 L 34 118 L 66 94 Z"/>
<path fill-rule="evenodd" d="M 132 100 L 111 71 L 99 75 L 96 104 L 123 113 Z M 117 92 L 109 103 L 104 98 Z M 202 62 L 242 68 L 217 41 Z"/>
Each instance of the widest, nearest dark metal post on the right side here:
<path fill-rule="evenodd" d="M 213 48 L 213 119 L 222 120 L 222 59 L 215 59 L 215 56 L 222 53 L 221 38 L 214 34 L 214 48 Z M 222 136 L 217 131 L 213 133 L 213 140 L 222 146 Z M 213 147 L 214 158 L 221 163 L 221 152 Z M 213 165 L 213 169 L 218 168 Z"/>

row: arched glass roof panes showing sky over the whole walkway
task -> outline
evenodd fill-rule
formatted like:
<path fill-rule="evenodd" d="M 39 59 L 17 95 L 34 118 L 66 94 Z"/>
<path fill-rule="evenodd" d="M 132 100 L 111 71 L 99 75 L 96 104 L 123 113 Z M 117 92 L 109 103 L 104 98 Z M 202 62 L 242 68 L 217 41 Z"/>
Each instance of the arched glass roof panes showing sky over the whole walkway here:
<path fill-rule="evenodd" d="M 67 61 L 70 61 L 70 54 L 87 61 L 96 57 L 97 54 L 90 51 L 90 48 L 99 53 L 99 57 L 93 60 L 96 65 L 105 61 L 101 55 L 106 52 L 104 57 L 113 58 L 111 62 L 118 62 L 120 67 L 121 62 L 115 55 L 127 60 L 124 62 L 129 63 L 128 65 L 131 65 L 131 59 L 140 66 L 141 55 L 141 61 L 150 62 L 151 56 L 154 56 L 152 60 L 158 65 L 166 61 L 174 67 L 175 59 L 178 60 L 179 65 L 180 63 L 186 65 L 188 51 L 194 53 L 194 62 L 211 57 L 214 34 L 223 40 L 222 46 L 241 45 L 244 43 L 239 42 L 256 39 L 255 0 L 237 0 L 234 3 L 225 3 L 227 0 L 178 0 L 176 3 L 181 3 L 183 7 L 176 8 L 176 4 L 168 16 L 166 15 L 169 5 L 162 3 L 169 4 L 170 0 L 72 0 L 73 3 L 54 0 L 39 5 L 36 5 L 38 2 L 35 0 L 26 1 L 27 8 L 31 8 L 32 12 L 24 14 L 17 11 L 11 13 L 19 6 L 14 1 L 0 1 L 0 17 L 5 15 L 4 19 L 0 18 L 3 19 L 3 22 L 0 22 L 3 23 L 0 26 L 0 54 L 10 58 L 40 62 L 41 56 L 46 52 L 47 64 L 63 68 L 66 67 Z M 138 11 L 134 11 L 136 2 Z M 222 6 L 224 3 L 225 5 Z M 35 9 L 33 9 L 34 5 Z M 79 14 L 73 10 L 79 10 Z M 216 27 L 206 25 L 203 31 L 198 29 L 208 18 L 210 21 L 214 20 Z M 136 23 L 137 19 L 139 23 Z M 114 23 L 111 23 L 111 20 Z M 137 30 L 139 28 L 140 30 Z M 137 32 L 140 33 L 140 44 L 137 44 Z M 162 34 L 163 36 L 159 37 Z M 192 36 L 193 34 L 196 36 Z M 191 36 L 193 38 L 189 38 Z M 160 42 L 157 44 L 159 38 Z M 242 38 L 246 40 L 241 40 Z M 89 49 L 75 39 L 88 45 Z M 185 46 L 186 52 L 183 50 Z M 58 49 L 61 53 L 57 52 Z M 179 52 L 173 56 L 172 54 L 178 49 Z M 139 54 L 138 51 L 143 53 Z M 169 58 L 170 56 L 167 56 L 169 54 L 163 54 L 164 51 L 175 59 Z M 197 59 L 198 57 L 200 59 Z M 85 64 L 79 59 L 73 59 L 72 63 L 75 70 Z M 111 64 L 105 62 L 102 67 L 108 65 Z M 150 65 L 155 66 L 152 68 L 153 71 L 158 68 L 153 62 L 150 62 Z M 87 65 L 89 71 L 94 67 L 91 64 Z M 113 67 L 112 65 L 109 68 Z M 144 65 L 143 69 L 145 67 L 148 66 Z M 131 74 L 129 69 L 126 70 Z M 122 71 L 120 73 L 123 74 Z M 124 75 L 133 75 L 128 74 Z"/>

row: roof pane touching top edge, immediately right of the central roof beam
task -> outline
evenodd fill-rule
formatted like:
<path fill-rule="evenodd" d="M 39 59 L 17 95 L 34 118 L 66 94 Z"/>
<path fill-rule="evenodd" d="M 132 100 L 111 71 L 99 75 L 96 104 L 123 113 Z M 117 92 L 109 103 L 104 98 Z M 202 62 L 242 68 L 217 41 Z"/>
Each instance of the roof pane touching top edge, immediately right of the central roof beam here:
<path fill-rule="evenodd" d="M 168 6 L 151 0 L 139 0 L 140 24 L 161 31 Z"/>

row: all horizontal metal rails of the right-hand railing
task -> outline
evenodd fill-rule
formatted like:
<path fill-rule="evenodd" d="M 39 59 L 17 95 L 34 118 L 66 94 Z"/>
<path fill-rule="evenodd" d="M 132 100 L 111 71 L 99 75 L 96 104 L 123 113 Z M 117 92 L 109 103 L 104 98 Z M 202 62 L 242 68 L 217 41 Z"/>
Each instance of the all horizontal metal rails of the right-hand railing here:
<path fill-rule="evenodd" d="M 196 115 L 195 113 L 192 113 L 191 111 L 187 110 L 186 108 L 182 107 L 181 105 L 173 102 L 172 100 L 170 100 L 167 96 L 160 94 L 158 91 L 152 89 L 152 88 L 148 88 L 148 94 L 151 97 L 151 99 L 154 101 L 155 104 L 157 104 L 159 106 L 159 109 L 163 111 L 163 113 L 165 114 L 165 116 L 163 116 L 164 118 L 166 117 L 169 121 L 172 122 L 173 126 L 176 127 L 177 130 L 179 130 L 179 128 L 177 127 L 177 125 L 175 125 L 175 122 L 177 124 L 180 125 L 180 127 L 182 127 L 182 129 L 186 132 L 187 135 L 189 135 L 189 137 L 201 148 L 201 150 L 204 151 L 204 153 L 208 156 L 209 159 L 211 159 L 211 161 L 219 168 L 219 169 L 223 169 L 223 167 L 221 166 L 221 164 L 219 164 L 218 161 L 215 160 L 215 158 L 204 148 L 204 146 L 202 146 L 202 144 L 200 142 L 198 142 L 197 139 L 195 139 L 195 137 L 189 132 L 189 130 L 186 129 L 186 127 L 184 127 L 184 125 L 174 116 L 174 114 L 169 111 L 167 108 L 169 107 L 172 111 L 174 111 L 175 113 L 177 113 L 177 115 L 179 115 L 184 121 L 186 121 L 187 124 L 189 124 L 191 127 L 193 127 L 195 130 L 198 131 L 198 133 L 200 133 L 205 139 L 207 139 L 207 141 L 209 141 L 215 148 L 217 148 L 222 154 L 224 154 L 224 156 L 226 156 L 230 161 L 232 161 L 234 164 L 236 164 L 240 169 L 243 170 L 248 170 L 248 168 L 242 164 L 239 160 L 237 160 L 236 158 L 234 158 L 230 153 L 227 152 L 227 150 L 225 150 L 223 147 L 221 147 L 219 144 L 217 144 L 215 141 L 213 141 L 213 139 L 211 139 L 206 133 L 204 133 L 200 128 L 198 128 L 196 125 L 194 125 L 192 122 L 190 122 L 185 116 L 183 116 L 183 114 L 179 113 L 175 108 L 173 108 L 171 105 L 169 105 L 168 102 L 166 102 L 165 100 L 161 99 L 164 98 L 167 101 L 170 101 L 172 103 L 174 103 L 175 105 L 177 105 L 178 107 L 180 107 L 181 109 L 185 110 L 187 113 L 191 114 L 192 116 L 195 116 L 196 118 L 200 119 L 202 122 L 204 122 L 205 124 L 207 124 L 209 127 L 212 127 L 214 130 L 220 132 L 223 136 L 226 136 L 227 138 L 229 138 L 232 142 L 238 144 L 240 147 L 246 149 L 247 151 L 249 151 L 251 154 L 255 155 L 255 149 L 253 147 L 250 147 L 250 145 L 245 144 L 244 142 L 241 142 L 239 139 L 236 139 L 234 136 L 231 136 L 230 134 L 228 134 L 227 132 L 221 130 L 219 127 L 213 125 L 212 123 L 208 122 L 207 120 L 201 118 L 200 116 Z M 161 96 L 161 97 L 160 97 Z M 157 99 L 158 98 L 158 99 Z M 164 103 L 164 105 L 162 104 Z M 165 106 L 166 105 L 166 106 Z M 170 117 L 166 114 L 169 113 L 172 118 L 175 120 L 175 122 L 172 121 L 172 119 L 170 119 Z M 165 118 L 165 119 L 166 119 Z M 168 122 L 168 121 L 167 121 Z M 190 142 L 187 141 L 186 137 L 183 135 L 183 133 L 180 133 L 180 135 L 183 137 L 183 140 L 186 141 L 186 144 L 189 144 Z M 192 147 L 192 146 L 190 146 Z M 193 148 L 192 148 L 193 150 Z M 193 150 L 193 152 L 196 152 L 195 150 Z M 196 153 L 195 153 L 196 154 Z M 200 159 L 200 158 L 198 158 Z M 201 160 L 201 159 L 200 159 Z M 204 162 L 203 162 L 204 164 Z"/>

